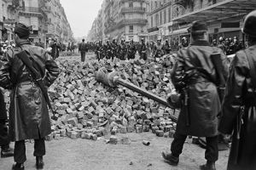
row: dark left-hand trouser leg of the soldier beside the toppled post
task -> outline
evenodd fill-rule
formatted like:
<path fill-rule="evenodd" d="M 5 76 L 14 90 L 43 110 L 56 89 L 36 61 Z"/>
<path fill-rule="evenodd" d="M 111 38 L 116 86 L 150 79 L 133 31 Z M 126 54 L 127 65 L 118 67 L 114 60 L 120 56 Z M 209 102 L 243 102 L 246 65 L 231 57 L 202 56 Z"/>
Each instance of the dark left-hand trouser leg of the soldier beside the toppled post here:
<path fill-rule="evenodd" d="M 183 134 L 174 134 L 174 139 L 171 145 L 172 156 L 178 157 L 183 152 L 183 144 L 187 139 L 187 135 Z"/>

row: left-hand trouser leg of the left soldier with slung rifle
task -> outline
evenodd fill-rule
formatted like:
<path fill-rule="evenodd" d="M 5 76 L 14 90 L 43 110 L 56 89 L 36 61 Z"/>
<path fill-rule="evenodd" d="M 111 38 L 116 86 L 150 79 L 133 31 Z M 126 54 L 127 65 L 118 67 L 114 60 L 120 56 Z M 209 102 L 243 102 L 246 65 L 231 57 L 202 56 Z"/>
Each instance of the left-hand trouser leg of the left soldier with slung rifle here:
<path fill-rule="evenodd" d="M 26 161 L 26 145 L 25 140 L 15 142 L 15 162 L 24 163 Z"/>

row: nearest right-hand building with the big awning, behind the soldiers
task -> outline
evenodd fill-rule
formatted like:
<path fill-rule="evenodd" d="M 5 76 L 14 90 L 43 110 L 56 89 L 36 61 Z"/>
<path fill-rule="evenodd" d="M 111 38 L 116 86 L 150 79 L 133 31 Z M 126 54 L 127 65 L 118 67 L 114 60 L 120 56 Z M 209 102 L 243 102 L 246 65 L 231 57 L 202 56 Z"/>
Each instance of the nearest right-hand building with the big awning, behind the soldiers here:
<path fill-rule="evenodd" d="M 247 0 L 152 0 L 148 13 L 148 39 L 168 39 L 177 48 L 187 37 L 195 20 L 204 20 L 209 28 L 209 41 L 218 37 L 242 40 L 244 16 L 256 8 L 256 1 Z"/>

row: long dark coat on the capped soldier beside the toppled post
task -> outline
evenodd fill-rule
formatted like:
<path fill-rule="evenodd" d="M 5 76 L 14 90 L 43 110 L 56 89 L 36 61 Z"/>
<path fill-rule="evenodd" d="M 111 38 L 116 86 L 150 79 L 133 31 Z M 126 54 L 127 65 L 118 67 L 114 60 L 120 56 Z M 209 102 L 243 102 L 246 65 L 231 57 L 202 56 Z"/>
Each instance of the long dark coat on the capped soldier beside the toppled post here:
<path fill-rule="evenodd" d="M 217 73 L 210 54 L 221 54 L 224 76 L 228 74 L 228 60 L 221 49 L 210 47 L 207 41 L 196 41 L 177 53 L 172 72 L 172 83 L 177 92 L 187 87 L 189 102 L 189 126 L 186 107 L 182 105 L 177 120 L 176 133 L 197 137 L 213 137 L 218 134 L 218 114 L 221 109 L 218 91 L 214 82 Z"/>

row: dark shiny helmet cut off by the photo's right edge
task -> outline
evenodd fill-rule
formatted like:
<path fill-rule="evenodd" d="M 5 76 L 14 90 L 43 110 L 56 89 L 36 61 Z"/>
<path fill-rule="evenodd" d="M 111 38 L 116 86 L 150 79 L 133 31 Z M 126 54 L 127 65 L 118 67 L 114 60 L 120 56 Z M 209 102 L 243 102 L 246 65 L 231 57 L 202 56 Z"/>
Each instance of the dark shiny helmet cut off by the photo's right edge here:
<path fill-rule="evenodd" d="M 243 24 L 243 32 L 248 36 L 256 37 L 256 10 L 247 14 Z"/>

